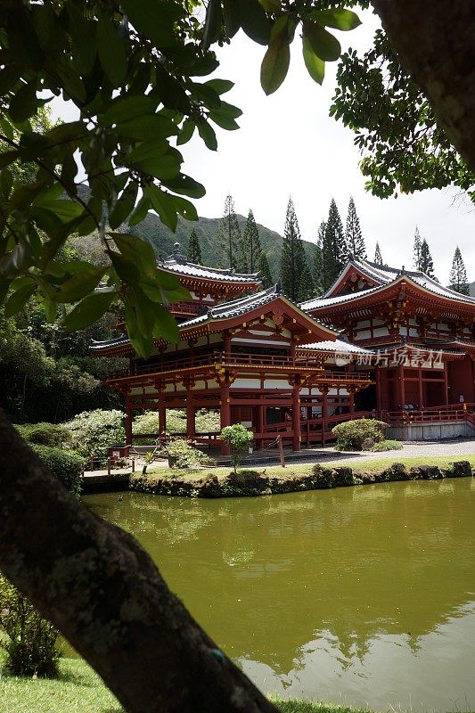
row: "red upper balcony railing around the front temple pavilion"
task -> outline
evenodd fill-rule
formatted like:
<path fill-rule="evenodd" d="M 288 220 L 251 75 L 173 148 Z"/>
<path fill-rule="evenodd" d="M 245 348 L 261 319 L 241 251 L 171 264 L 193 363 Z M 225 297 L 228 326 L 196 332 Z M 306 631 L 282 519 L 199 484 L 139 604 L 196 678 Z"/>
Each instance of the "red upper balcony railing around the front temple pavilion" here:
<path fill-rule="evenodd" d="M 314 369 L 321 371 L 323 379 L 339 381 L 371 381 L 367 372 L 330 372 L 323 370 L 321 365 L 311 356 L 280 356 L 280 355 L 260 355 L 260 354 L 205 354 L 197 356 L 186 356 L 181 359 L 163 360 L 153 364 L 134 365 L 132 368 L 124 369 L 120 372 L 111 372 L 108 379 L 119 379 L 127 376 L 140 376 L 150 373 L 177 372 L 182 369 L 198 368 L 201 366 L 231 366 L 249 367 L 264 366 L 283 371 L 291 369 Z"/>

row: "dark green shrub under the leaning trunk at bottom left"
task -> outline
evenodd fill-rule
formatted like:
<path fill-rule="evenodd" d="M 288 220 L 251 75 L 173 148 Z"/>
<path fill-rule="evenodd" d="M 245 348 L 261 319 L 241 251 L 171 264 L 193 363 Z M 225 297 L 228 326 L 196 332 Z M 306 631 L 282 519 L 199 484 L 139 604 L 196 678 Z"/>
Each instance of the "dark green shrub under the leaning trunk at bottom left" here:
<path fill-rule="evenodd" d="M 1 573 L 0 628 L 6 635 L 0 638 L 0 646 L 6 652 L 6 668 L 13 676 L 57 675 L 59 632 Z"/>

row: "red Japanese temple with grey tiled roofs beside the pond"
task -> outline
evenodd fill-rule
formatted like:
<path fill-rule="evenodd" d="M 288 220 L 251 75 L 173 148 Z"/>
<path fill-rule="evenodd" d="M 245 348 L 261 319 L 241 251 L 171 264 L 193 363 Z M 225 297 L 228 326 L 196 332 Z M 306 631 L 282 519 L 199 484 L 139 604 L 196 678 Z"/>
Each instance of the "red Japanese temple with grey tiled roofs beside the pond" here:
<path fill-rule="evenodd" d="M 259 290 L 258 275 L 193 265 L 177 243 L 159 266 L 190 291 L 168 306 L 179 342 L 156 340 L 147 361 L 126 334 L 92 347 L 130 360 L 107 381 L 125 397 L 127 443 L 143 410 L 157 411 L 159 435 L 167 409 L 184 409 L 187 437 L 226 454 L 218 433 L 196 432 L 198 409 L 249 427 L 257 448 L 279 436 L 299 450 L 348 418 L 427 422 L 436 409 L 447 420 L 475 401 L 475 299 L 423 273 L 352 258 L 327 294 L 298 305 L 279 284 Z"/>

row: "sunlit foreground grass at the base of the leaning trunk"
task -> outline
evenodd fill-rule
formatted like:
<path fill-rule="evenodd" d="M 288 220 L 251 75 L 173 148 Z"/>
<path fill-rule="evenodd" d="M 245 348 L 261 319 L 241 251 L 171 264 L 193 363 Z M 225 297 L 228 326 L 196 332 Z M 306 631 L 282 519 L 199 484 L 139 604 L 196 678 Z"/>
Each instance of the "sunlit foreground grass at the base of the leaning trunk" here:
<path fill-rule="evenodd" d="M 273 699 L 274 700 L 274 699 Z M 282 713 L 360 713 L 332 704 L 277 701 Z M 0 713 L 123 713 L 86 661 L 62 659 L 60 677 L 15 678 L 0 668 Z M 361 711 L 363 713 L 363 711 Z M 368 711 L 364 711 L 368 713 Z"/>

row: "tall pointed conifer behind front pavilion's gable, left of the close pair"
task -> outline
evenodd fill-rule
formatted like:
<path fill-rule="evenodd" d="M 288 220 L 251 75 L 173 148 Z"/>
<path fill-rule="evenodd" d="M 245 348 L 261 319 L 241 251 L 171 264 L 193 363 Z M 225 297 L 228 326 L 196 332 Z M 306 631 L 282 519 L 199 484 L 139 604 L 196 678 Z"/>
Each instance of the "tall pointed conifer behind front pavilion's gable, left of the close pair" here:
<path fill-rule="evenodd" d="M 307 258 L 300 237 L 299 221 L 290 198 L 283 229 L 281 281 L 283 292 L 294 302 L 305 299 L 307 294 L 307 280 L 310 278 L 311 281 L 311 275 L 308 266 L 308 274 L 304 275 L 306 266 Z"/>

